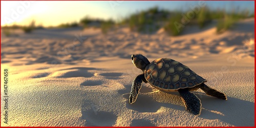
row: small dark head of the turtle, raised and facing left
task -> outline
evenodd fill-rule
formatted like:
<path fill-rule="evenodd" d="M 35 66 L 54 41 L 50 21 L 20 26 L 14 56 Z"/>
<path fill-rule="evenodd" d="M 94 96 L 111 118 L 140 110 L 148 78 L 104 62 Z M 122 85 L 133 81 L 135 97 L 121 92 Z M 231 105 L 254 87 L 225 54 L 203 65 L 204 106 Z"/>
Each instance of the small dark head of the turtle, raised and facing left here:
<path fill-rule="evenodd" d="M 150 64 L 150 61 L 148 61 L 148 59 L 141 54 L 133 54 L 131 58 L 132 58 L 133 65 L 141 69 L 143 72 L 146 66 Z"/>

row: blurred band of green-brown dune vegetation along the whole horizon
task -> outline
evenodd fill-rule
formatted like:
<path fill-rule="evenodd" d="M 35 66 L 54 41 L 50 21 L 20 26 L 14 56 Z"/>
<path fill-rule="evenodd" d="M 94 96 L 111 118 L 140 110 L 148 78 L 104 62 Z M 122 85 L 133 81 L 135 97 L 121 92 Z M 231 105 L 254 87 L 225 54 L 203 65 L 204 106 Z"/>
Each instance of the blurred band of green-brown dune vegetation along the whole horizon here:
<path fill-rule="evenodd" d="M 151 34 L 163 28 L 166 33 L 173 36 L 181 35 L 186 26 L 196 25 L 199 28 L 204 28 L 212 21 L 216 21 L 216 33 L 223 33 L 226 30 L 235 26 L 240 19 L 254 17 L 254 13 L 250 14 L 249 10 L 237 11 L 233 9 L 231 12 L 226 12 L 224 9 L 210 10 L 207 6 L 202 8 L 194 8 L 188 11 L 169 11 L 152 7 L 147 10 L 131 14 L 119 22 L 113 19 L 98 19 L 85 16 L 79 22 L 60 24 L 51 28 L 72 28 L 72 27 L 94 27 L 100 28 L 103 34 L 110 30 L 115 30 L 120 26 L 129 27 L 131 31 Z M 12 28 L 21 28 L 25 33 L 31 33 L 36 28 L 35 20 L 28 26 L 5 26 L 2 28 L 5 35 L 11 35 Z"/>

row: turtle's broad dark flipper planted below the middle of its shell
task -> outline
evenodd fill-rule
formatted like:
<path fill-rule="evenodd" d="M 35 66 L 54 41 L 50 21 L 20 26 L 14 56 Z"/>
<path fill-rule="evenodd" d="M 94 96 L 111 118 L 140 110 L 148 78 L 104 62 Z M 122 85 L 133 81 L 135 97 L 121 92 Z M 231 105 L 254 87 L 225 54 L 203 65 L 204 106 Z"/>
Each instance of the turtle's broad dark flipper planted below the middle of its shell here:
<path fill-rule="evenodd" d="M 201 113 L 201 100 L 194 94 L 188 91 L 188 89 L 179 89 L 178 92 L 182 97 L 182 101 L 185 104 L 186 110 L 194 115 L 199 116 Z"/>

